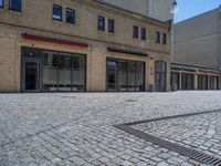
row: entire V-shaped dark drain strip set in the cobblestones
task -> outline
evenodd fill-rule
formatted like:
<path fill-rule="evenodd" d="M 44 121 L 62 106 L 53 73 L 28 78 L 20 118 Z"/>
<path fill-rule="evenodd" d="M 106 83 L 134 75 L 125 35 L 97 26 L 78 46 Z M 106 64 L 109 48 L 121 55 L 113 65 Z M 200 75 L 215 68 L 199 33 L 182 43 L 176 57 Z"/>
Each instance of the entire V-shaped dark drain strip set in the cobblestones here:
<path fill-rule="evenodd" d="M 152 118 L 152 120 L 146 120 L 146 121 L 138 121 L 138 122 L 114 125 L 114 127 L 117 129 L 124 131 L 128 134 L 131 134 L 136 137 L 139 137 L 141 139 L 145 139 L 147 142 L 154 143 L 156 145 L 159 145 L 161 147 L 176 152 L 180 155 L 187 156 L 191 159 L 198 160 L 202 164 L 221 166 L 221 158 L 210 156 L 208 154 L 196 151 L 194 148 L 188 148 L 179 144 L 165 141 L 162 138 L 156 137 L 154 135 L 147 134 L 143 131 L 131 127 L 134 125 L 149 123 L 149 122 L 157 122 L 157 121 L 171 120 L 171 118 L 178 118 L 178 117 L 189 117 L 189 116 L 194 116 L 194 115 L 211 114 L 211 113 L 218 113 L 218 112 L 221 112 L 221 110 L 204 111 L 204 112 L 198 112 L 198 113 L 181 114 L 181 115 L 175 115 L 175 116 L 166 116 L 166 117 L 159 117 L 159 118 Z"/>

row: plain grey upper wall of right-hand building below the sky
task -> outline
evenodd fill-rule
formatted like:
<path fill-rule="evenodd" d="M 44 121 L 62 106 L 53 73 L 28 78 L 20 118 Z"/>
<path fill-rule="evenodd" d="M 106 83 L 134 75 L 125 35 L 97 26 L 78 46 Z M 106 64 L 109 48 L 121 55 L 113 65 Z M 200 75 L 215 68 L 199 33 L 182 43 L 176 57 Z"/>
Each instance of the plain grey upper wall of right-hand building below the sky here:
<path fill-rule="evenodd" d="M 175 62 L 219 68 L 219 10 L 175 24 Z"/>

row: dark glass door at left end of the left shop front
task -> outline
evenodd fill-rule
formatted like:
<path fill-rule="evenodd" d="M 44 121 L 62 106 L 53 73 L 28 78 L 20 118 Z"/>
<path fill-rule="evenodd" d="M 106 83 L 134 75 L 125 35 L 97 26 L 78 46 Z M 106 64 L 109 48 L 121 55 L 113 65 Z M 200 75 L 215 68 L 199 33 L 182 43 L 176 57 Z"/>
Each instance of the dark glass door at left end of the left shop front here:
<path fill-rule="evenodd" d="M 25 91 L 39 90 L 39 62 L 25 62 Z"/>

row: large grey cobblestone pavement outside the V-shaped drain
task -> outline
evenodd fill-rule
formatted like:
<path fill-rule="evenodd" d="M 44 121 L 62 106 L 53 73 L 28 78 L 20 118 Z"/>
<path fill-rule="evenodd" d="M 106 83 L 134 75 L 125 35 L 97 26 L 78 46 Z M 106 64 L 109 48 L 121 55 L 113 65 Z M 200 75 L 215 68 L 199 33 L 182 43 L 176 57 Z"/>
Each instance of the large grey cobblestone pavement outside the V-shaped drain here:
<path fill-rule="evenodd" d="M 221 110 L 220 101 L 221 92 L 0 94 L 0 165 L 200 165 L 113 125 Z"/>

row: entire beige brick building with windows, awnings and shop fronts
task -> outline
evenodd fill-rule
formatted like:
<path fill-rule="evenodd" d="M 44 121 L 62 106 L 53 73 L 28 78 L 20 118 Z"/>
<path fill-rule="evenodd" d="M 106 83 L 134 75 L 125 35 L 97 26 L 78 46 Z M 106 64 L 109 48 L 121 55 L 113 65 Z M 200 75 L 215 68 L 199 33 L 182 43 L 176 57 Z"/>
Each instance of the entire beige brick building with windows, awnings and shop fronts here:
<path fill-rule="evenodd" d="M 0 0 L 0 92 L 170 89 L 169 23 L 94 0 Z"/>

